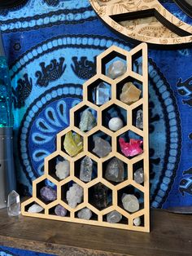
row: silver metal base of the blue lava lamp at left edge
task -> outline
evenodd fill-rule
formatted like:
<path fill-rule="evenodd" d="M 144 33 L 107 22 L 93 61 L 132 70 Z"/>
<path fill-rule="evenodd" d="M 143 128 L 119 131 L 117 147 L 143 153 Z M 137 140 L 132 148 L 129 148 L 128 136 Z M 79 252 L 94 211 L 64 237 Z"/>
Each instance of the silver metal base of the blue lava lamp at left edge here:
<path fill-rule="evenodd" d="M 7 196 L 15 187 L 12 127 L 0 127 L 0 209 L 7 207 Z"/>

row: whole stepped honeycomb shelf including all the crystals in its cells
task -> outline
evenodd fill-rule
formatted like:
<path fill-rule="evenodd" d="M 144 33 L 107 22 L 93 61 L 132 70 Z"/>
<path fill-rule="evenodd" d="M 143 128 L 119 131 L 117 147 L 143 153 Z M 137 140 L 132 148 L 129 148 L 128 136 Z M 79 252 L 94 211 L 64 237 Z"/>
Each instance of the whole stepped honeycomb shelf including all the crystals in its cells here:
<path fill-rule="evenodd" d="M 70 109 L 22 214 L 149 232 L 147 67 L 146 44 L 98 55 L 97 74 Z"/>

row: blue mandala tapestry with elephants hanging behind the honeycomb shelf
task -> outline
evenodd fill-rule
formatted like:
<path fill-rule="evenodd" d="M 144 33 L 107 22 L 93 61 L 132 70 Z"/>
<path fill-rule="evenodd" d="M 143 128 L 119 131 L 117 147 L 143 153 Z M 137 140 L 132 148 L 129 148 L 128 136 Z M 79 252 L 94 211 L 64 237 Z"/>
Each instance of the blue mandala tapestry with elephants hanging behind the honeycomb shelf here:
<path fill-rule="evenodd" d="M 161 1 L 192 24 L 172 1 Z M 55 151 L 56 134 L 95 73 L 95 56 L 133 48 L 98 18 L 88 0 L 28 0 L 0 11 L 14 96 L 15 167 L 20 194 Z M 151 206 L 192 204 L 192 49 L 149 50 Z"/>

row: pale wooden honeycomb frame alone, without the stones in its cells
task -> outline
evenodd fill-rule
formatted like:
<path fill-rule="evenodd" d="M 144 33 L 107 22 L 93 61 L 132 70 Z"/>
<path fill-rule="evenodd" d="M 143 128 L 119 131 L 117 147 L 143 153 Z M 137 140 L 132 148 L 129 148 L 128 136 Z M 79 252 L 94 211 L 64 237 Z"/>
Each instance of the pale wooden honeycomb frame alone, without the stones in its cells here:
<path fill-rule="evenodd" d="M 120 55 L 125 56 L 125 60 L 128 61 L 127 65 L 127 72 L 124 73 L 122 77 L 118 77 L 115 80 L 112 80 L 111 78 L 107 77 L 105 74 L 103 74 L 103 58 L 107 57 L 108 55 L 111 55 L 111 53 L 118 53 Z M 142 53 L 142 75 L 134 73 L 132 70 L 132 62 L 133 62 L 133 55 L 135 55 L 137 52 Z M 142 82 L 142 99 L 139 99 L 135 104 L 127 105 L 120 100 L 116 99 L 116 84 L 120 82 L 121 80 L 124 80 L 126 77 L 133 77 L 136 78 L 138 81 Z M 103 106 L 96 106 L 94 103 L 90 103 L 87 98 L 87 90 L 89 90 L 89 86 L 97 81 L 97 79 L 103 79 L 107 83 L 111 85 L 111 100 L 107 102 L 107 104 L 104 104 Z M 108 106 L 111 106 L 112 104 L 119 104 L 121 107 L 125 108 L 126 111 L 129 113 L 129 121 L 126 126 L 124 126 L 121 129 L 121 132 L 111 132 L 111 130 L 107 130 L 106 127 L 102 126 L 102 111 L 107 108 Z M 137 106 L 142 104 L 143 109 L 143 130 L 139 130 L 137 127 L 133 126 L 132 122 L 132 115 L 133 115 L 133 109 L 137 108 Z M 88 137 L 93 135 L 93 133 L 84 133 L 81 132 L 76 126 L 74 126 L 74 113 L 83 106 L 88 105 L 91 108 L 94 108 L 97 110 L 98 113 L 98 119 L 97 119 L 97 128 L 95 130 L 103 130 L 104 132 L 109 131 L 109 135 L 111 135 L 111 148 L 112 151 L 107 157 L 98 158 L 94 156 L 91 152 L 88 151 Z M 116 227 L 120 229 L 126 229 L 126 230 L 135 230 L 135 231 L 141 231 L 141 232 L 149 232 L 150 231 L 150 202 L 149 202 L 149 144 L 148 144 L 148 60 L 147 60 L 147 46 L 146 43 L 142 43 L 139 46 L 133 48 L 132 51 L 124 51 L 123 49 L 117 47 L 117 46 L 111 46 L 107 51 L 104 51 L 101 55 L 98 55 L 97 57 L 97 74 L 90 78 L 89 81 L 85 82 L 84 84 L 84 93 L 83 93 L 83 101 L 76 105 L 74 108 L 70 111 L 70 121 L 72 121 L 71 125 L 66 128 L 65 130 L 59 132 L 57 135 L 57 150 L 53 152 L 50 156 L 45 158 L 45 174 L 43 174 L 40 178 L 33 181 L 33 196 L 32 198 L 28 199 L 27 201 L 24 201 L 21 205 L 21 212 L 24 216 L 30 216 L 30 217 L 37 217 L 37 218 L 47 218 L 47 219 L 55 219 L 60 221 L 67 221 L 72 223 L 84 223 L 84 224 L 90 224 L 90 225 L 98 225 L 103 227 Z M 77 133 L 83 136 L 84 139 L 84 151 L 78 154 L 76 157 L 66 157 L 66 153 L 62 152 L 61 150 L 61 139 L 63 135 L 65 135 L 69 130 L 75 130 Z M 95 131 L 94 130 L 94 131 Z M 138 135 L 141 135 L 143 138 L 143 153 L 142 155 L 138 155 L 137 157 L 133 157 L 132 159 L 129 159 L 127 157 L 124 157 L 120 153 L 117 152 L 117 145 L 116 145 L 116 138 L 118 135 L 126 132 L 127 130 L 132 130 L 133 132 L 137 133 Z M 63 179 L 61 181 L 57 181 L 55 177 L 51 176 L 49 173 L 49 161 L 53 160 L 57 156 L 62 156 L 68 159 L 70 161 L 70 175 L 68 178 Z M 118 183 L 116 186 L 107 181 L 107 179 L 103 178 L 103 162 L 109 160 L 111 157 L 117 157 L 124 163 L 126 166 L 128 166 L 128 179 L 124 180 L 122 183 Z M 91 157 L 94 161 L 97 162 L 98 166 L 98 175 L 95 179 L 91 180 L 89 183 L 84 183 L 80 179 L 78 179 L 75 176 L 75 161 L 78 159 L 81 159 L 81 157 Z M 144 170 L 144 183 L 143 186 L 134 182 L 133 180 L 133 165 L 137 163 L 137 161 L 143 161 L 143 170 Z M 45 179 L 49 179 L 51 182 L 55 183 L 57 186 L 57 200 L 50 202 L 50 204 L 43 203 L 40 198 L 37 197 L 37 184 L 42 182 Z M 65 201 L 62 200 L 62 187 L 70 182 L 74 181 L 75 183 L 78 183 L 83 189 L 84 189 L 84 200 L 80 205 L 77 205 L 76 208 L 72 209 Z M 103 183 L 105 186 L 111 189 L 112 192 L 112 204 L 107 207 L 104 210 L 98 210 L 94 207 L 94 205 L 89 204 L 89 188 L 92 188 L 97 183 Z M 142 206 L 142 209 L 138 210 L 137 212 L 133 214 L 129 214 L 126 210 L 120 207 L 118 205 L 118 191 L 122 188 L 127 188 L 127 186 L 132 186 L 134 188 L 137 188 L 140 192 L 143 194 L 144 204 Z M 28 206 L 32 205 L 33 202 L 36 202 L 37 204 L 41 205 L 41 207 L 44 208 L 43 213 L 28 213 Z M 54 214 L 50 214 L 50 209 L 55 207 L 55 205 L 63 205 L 68 212 L 68 217 L 60 217 Z M 91 210 L 94 214 L 98 215 L 97 220 L 94 219 L 81 219 L 76 218 L 76 212 L 78 210 L 81 210 L 82 208 L 87 207 L 89 210 Z M 128 223 L 107 223 L 106 221 L 103 221 L 103 216 L 107 213 L 110 213 L 112 210 L 117 210 L 120 214 L 122 214 L 127 220 Z M 142 226 L 134 226 L 133 225 L 133 219 L 137 218 L 139 216 L 144 216 L 144 223 Z"/>

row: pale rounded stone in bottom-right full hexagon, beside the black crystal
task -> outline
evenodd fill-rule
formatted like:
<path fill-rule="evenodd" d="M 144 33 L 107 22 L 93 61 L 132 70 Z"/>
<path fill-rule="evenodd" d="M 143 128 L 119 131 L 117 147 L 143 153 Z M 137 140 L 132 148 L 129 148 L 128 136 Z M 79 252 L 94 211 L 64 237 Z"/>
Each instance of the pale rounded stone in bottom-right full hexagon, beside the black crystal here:
<path fill-rule="evenodd" d="M 121 201 L 123 203 L 124 209 L 128 210 L 130 213 L 134 213 L 139 210 L 139 202 L 136 196 L 123 194 Z"/>

